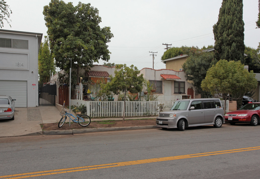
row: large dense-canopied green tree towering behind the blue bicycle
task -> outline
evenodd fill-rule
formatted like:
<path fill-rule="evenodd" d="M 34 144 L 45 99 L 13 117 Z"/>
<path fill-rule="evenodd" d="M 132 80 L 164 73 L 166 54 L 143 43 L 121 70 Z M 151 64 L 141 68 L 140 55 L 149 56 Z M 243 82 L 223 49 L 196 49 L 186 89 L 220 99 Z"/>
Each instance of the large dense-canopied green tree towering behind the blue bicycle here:
<path fill-rule="evenodd" d="M 107 43 L 113 37 L 110 27 L 100 27 L 99 11 L 88 4 L 51 0 L 44 6 L 44 20 L 48 28 L 50 50 L 56 66 L 69 72 L 70 66 L 89 70 L 100 59 L 108 61 L 110 52 Z"/>

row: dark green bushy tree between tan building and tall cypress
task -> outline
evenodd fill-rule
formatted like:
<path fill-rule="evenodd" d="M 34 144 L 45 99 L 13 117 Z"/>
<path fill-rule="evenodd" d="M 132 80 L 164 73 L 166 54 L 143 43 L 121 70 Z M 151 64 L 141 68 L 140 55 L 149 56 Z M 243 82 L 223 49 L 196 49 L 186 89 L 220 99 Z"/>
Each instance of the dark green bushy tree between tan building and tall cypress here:
<path fill-rule="evenodd" d="M 193 54 L 189 55 L 186 62 L 182 65 L 186 74 L 186 79 L 192 81 L 192 84 L 197 87 L 196 92 L 201 94 L 202 98 L 208 98 L 211 96 L 209 93 L 203 91 L 200 85 L 206 76 L 207 70 L 209 69 L 213 58 L 213 52 L 196 50 Z"/>

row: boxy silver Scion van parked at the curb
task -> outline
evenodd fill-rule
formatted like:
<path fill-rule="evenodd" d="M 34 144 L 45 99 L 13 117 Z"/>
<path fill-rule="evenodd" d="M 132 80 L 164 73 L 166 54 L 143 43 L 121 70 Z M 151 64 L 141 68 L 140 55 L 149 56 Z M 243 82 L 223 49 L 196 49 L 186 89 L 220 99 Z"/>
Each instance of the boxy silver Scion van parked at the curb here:
<path fill-rule="evenodd" d="M 178 128 L 214 125 L 221 127 L 225 123 L 224 110 L 218 98 L 177 100 L 170 111 L 160 112 L 156 118 L 156 126 Z"/>

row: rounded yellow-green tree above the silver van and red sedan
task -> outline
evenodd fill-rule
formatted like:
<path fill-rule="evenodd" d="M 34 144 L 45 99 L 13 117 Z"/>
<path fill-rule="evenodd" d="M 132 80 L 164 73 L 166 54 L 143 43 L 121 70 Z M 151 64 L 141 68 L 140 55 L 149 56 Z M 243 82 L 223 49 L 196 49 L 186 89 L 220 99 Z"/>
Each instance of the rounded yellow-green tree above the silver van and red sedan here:
<path fill-rule="evenodd" d="M 245 93 L 257 87 L 257 80 L 253 71 L 248 72 L 240 61 L 219 60 L 213 65 L 202 80 L 201 88 L 212 95 L 223 97 L 224 111 L 228 95 L 236 94 L 241 99 Z M 231 98 L 231 97 L 230 97 Z"/>

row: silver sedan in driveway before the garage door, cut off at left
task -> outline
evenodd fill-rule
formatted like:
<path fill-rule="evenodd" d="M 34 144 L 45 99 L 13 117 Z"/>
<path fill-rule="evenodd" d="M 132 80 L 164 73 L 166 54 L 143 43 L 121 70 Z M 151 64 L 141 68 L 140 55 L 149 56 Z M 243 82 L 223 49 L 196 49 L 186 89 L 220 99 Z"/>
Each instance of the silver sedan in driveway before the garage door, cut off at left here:
<path fill-rule="evenodd" d="M 15 100 L 10 96 L 0 95 L 0 119 L 15 119 Z"/>

